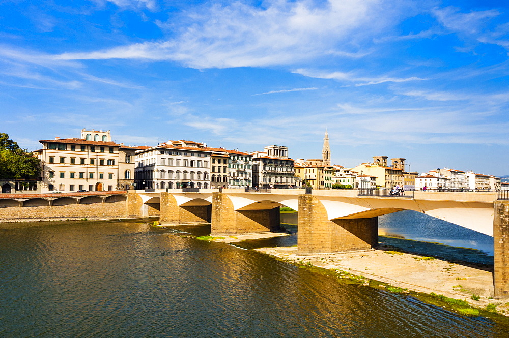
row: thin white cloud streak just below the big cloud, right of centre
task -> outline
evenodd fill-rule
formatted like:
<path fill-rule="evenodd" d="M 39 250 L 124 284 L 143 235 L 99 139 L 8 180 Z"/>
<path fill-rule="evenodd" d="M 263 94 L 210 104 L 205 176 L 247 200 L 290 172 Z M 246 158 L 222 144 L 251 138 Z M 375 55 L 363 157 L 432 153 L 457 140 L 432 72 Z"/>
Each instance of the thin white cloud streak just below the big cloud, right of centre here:
<path fill-rule="evenodd" d="M 366 86 L 371 84 L 380 84 L 384 82 L 408 82 L 408 81 L 422 81 L 427 80 L 416 76 L 407 78 L 379 76 L 379 77 L 363 77 L 357 76 L 353 73 L 344 72 L 324 72 L 324 71 L 310 71 L 306 69 L 297 69 L 293 73 L 300 74 L 307 77 L 313 77 L 318 79 L 333 79 L 338 81 L 357 82 L 354 85 L 356 87 Z"/>

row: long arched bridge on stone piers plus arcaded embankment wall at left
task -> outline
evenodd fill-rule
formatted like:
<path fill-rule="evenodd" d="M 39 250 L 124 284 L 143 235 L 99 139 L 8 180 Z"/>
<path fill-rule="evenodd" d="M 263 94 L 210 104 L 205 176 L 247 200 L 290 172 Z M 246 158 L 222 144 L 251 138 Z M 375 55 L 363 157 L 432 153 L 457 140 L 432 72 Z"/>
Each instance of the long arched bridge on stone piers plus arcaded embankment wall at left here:
<path fill-rule="evenodd" d="M 360 190 L 175 189 L 81 193 L 83 196 L 1 194 L 0 217 L 12 219 L 9 214 L 29 205 L 48 208 L 47 212 L 58 212 L 64 206 L 86 212 L 88 206 L 102 203 L 109 207 L 94 209 L 102 210 L 102 218 L 159 217 L 162 224 L 168 225 L 210 222 L 211 235 L 218 236 L 277 230 L 279 207 L 288 206 L 299 212 L 298 252 L 313 255 L 375 248 L 378 216 L 414 210 L 493 236 L 494 294 L 496 298 L 509 298 L 509 194 L 499 193 L 415 191 L 409 196 L 384 197 L 363 196 Z M 31 202 L 34 198 L 37 203 Z M 80 200 L 87 200 L 83 202 L 87 206 L 78 209 Z M 113 205 L 119 210 L 109 214 Z"/>

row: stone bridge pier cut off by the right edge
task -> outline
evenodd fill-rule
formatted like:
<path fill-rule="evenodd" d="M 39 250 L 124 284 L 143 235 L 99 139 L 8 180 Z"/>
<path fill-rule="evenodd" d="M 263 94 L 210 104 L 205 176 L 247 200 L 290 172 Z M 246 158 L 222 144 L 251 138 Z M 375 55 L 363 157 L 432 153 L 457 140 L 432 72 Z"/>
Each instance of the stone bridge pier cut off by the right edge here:
<path fill-rule="evenodd" d="M 495 298 L 509 298 L 509 201 L 495 201 L 493 211 Z"/>

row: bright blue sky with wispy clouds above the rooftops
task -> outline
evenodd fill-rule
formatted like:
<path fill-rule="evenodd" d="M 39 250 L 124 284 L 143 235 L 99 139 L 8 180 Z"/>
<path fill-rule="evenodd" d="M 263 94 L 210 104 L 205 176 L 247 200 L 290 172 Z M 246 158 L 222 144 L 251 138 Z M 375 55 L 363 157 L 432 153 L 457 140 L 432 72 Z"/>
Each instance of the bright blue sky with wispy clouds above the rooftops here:
<path fill-rule="evenodd" d="M 509 175 L 505 1 L 0 0 L 0 131 Z"/>

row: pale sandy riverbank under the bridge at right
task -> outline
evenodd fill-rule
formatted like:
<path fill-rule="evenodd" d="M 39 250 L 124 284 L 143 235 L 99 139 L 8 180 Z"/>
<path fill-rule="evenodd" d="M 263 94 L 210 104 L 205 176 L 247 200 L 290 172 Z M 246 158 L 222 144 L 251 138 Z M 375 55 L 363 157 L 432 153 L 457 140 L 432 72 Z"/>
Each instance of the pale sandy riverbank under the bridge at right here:
<path fill-rule="evenodd" d="M 402 291 L 441 294 L 464 300 L 475 308 L 496 308 L 501 314 L 509 315 L 509 302 L 493 299 L 493 268 L 482 264 L 449 262 L 383 246 L 368 251 L 310 256 L 299 255 L 296 247 L 254 250 L 289 263 L 345 271 Z"/>

